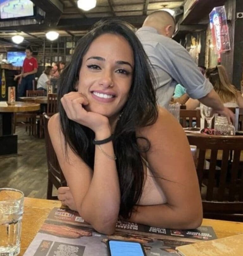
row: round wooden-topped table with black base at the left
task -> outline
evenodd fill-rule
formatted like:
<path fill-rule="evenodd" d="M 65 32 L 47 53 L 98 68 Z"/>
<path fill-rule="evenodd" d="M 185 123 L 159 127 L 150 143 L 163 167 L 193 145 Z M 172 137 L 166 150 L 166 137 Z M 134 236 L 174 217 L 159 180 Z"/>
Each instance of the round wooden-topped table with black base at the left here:
<path fill-rule="evenodd" d="M 40 104 L 16 101 L 0 106 L 0 156 L 17 154 L 17 135 L 14 135 L 14 113 L 40 109 Z"/>

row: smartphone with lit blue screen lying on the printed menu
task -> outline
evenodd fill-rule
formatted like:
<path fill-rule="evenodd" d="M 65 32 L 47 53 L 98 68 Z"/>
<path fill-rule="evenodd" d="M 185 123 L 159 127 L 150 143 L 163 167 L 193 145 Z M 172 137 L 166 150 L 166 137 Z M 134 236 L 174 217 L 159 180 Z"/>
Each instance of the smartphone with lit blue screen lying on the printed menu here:
<path fill-rule="evenodd" d="M 142 244 L 131 241 L 108 240 L 109 256 L 146 256 Z"/>

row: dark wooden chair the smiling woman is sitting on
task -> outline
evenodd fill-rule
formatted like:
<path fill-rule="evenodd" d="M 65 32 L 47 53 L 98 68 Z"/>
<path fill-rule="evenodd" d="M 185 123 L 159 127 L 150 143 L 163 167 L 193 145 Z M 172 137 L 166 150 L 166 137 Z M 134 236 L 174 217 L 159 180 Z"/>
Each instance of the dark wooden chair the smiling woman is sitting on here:
<path fill-rule="evenodd" d="M 53 145 L 47 129 L 49 119 L 50 117 L 46 113 L 43 113 L 48 168 L 47 199 L 56 200 L 57 196 L 52 195 L 53 185 L 58 189 L 59 187 L 66 186 L 67 183 L 59 166 L 57 156 L 53 149 Z"/>

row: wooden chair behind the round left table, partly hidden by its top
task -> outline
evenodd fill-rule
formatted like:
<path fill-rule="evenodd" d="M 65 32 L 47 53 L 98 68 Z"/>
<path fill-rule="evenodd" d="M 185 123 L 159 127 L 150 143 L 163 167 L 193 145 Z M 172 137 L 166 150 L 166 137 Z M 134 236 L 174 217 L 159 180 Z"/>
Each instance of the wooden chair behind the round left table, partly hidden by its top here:
<path fill-rule="evenodd" d="M 44 96 L 44 90 L 27 90 L 26 97 L 37 97 Z M 29 130 L 29 135 L 36 135 L 36 118 L 38 112 L 20 112 L 15 114 L 15 125 L 14 132 L 16 129 L 16 125 L 25 126 L 25 131 Z M 22 121 L 18 121 L 21 119 Z M 23 121 L 25 119 L 25 121 Z"/>

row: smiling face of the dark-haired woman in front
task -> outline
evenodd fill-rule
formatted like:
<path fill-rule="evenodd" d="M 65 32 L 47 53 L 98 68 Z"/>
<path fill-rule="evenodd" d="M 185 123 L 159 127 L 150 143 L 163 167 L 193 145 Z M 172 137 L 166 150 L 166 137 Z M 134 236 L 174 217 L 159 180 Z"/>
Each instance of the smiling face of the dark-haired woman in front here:
<path fill-rule="evenodd" d="M 127 102 L 133 71 L 133 49 L 124 37 L 97 37 L 84 55 L 79 72 L 78 92 L 89 101 L 85 109 L 108 118 L 117 117 Z"/>

